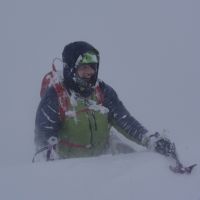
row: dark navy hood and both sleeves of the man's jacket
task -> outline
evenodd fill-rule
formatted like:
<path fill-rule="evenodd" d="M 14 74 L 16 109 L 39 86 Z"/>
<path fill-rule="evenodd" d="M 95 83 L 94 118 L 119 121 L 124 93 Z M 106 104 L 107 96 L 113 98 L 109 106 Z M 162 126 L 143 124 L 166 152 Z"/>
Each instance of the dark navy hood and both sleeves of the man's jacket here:
<path fill-rule="evenodd" d="M 67 45 L 62 54 L 63 62 L 66 66 L 63 70 L 64 86 L 70 91 L 74 90 L 83 97 L 88 97 L 93 93 L 93 88 L 81 93 L 73 80 L 74 65 L 79 55 L 85 52 L 93 51 L 98 56 L 99 52 L 86 42 L 74 42 Z M 93 77 L 93 85 L 95 85 L 98 77 L 98 70 Z M 127 111 L 123 103 L 119 100 L 116 92 L 112 87 L 99 81 L 99 87 L 103 94 L 103 106 L 108 108 L 108 119 L 119 132 L 123 133 L 129 139 L 142 144 L 144 135 L 147 130 Z M 59 113 L 58 96 L 53 87 L 49 88 L 41 99 L 36 113 L 35 120 L 35 143 L 38 148 L 47 144 L 47 140 L 51 136 L 58 136 L 58 132 L 62 127 L 62 121 Z"/>

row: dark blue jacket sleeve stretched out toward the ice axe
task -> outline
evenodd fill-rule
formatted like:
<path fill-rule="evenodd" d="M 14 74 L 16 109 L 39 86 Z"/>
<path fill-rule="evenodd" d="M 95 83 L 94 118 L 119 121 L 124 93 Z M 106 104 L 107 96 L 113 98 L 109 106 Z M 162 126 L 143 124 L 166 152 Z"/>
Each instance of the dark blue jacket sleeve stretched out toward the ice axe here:
<path fill-rule="evenodd" d="M 131 114 L 119 100 L 112 87 L 100 82 L 104 101 L 103 106 L 109 109 L 109 121 L 120 133 L 140 145 L 148 132 Z"/>

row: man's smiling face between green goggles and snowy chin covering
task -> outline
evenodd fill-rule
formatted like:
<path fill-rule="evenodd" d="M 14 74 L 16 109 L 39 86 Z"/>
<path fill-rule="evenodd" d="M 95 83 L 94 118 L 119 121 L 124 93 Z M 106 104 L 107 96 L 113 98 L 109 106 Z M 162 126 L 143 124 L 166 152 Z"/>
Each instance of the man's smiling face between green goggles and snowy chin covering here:
<path fill-rule="evenodd" d="M 95 69 L 89 64 L 81 65 L 77 69 L 77 74 L 80 78 L 90 79 L 96 73 Z"/>

